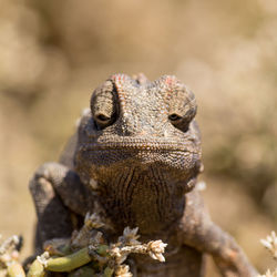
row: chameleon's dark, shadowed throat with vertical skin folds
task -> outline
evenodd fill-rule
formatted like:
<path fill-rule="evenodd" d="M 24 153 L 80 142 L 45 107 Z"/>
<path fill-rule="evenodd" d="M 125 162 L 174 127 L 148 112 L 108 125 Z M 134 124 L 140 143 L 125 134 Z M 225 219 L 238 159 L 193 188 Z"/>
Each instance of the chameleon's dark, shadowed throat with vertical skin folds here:
<path fill-rule="evenodd" d="M 121 228 L 138 227 L 141 234 L 153 234 L 168 228 L 183 214 L 182 187 L 158 168 L 130 167 L 109 179 L 100 185 L 102 205 Z"/>

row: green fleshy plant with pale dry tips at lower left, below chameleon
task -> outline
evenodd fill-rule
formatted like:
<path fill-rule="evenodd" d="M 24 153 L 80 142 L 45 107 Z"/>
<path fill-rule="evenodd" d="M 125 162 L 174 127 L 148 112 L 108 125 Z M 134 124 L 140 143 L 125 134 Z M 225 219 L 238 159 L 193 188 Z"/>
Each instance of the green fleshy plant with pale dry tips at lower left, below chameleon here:
<path fill-rule="evenodd" d="M 100 218 L 95 215 L 88 215 L 85 217 L 84 227 L 74 235 L 71 240 L 62 240 L 62 246 L 71 249 L 71 254 L 65 255 L 59 252 L 58 240 L 52 239 L 47 246 L 48 249 L 52 252 L 44 252 L 41 256 L 38 256 L 37 259 L 31 264 L 28 271 L 28 277 L 44 277 L 47 270 L 49 271 L 60 271 L 60 273 L 71 273 L 78 269 L 78 276 L 88 276 L 92 275 L 94 269 L 88 265 L 94 260 L 93 265 L 102 268 L 103 277 L 127 277 L 132 276 L 127 265 L 124 265 L 123 261 L 126 259 L 127 255 L 131 253 L 137 254 L 147 254 L 154 259 L 164 261 L 164 248 L 166 244 L 162 240 L 153 240 L 147 244 L 142 244 L 137 240 L 140 237 L 137 228 L 131 229 L 126 227 L 123 232 L 123 236 L 119 237 L 116 244 L 107 245 L 106 242 L 102 240 L 102 233 L 99 234 L 96 227 L 102 227 Z M 92 232 L 93 230 L 93 232 Z M 89 238 L 89 240 L 88 240 Z M 89 243 L 90 242 L 90 243 Z M 72 243 L 74 245 L 73 249 Z M 18 239 L 17 236 L 13 236 L 7 239 L 0 246 L 0 253 L 7 254 L 7 250 L 11 247 L 17 246 Z M 83 247 L 83 245 L 85 245 Z M 76 249 L 76 250 L 74 250 Z M 61 257 L 50 257 L 50 255 L 62 254 Z M 1 258 L 1 255 L 0 255 Z M 8 274 L 10 277 L 25 277 L 25 274 L 17 260 L 12 260 L 7 265 Z M 73 273 L 72 273 L 73 274 Z M 72 275 L 70 274 L 70 275 Z M 94 275 L 94 274 L 93 274 Z"/>

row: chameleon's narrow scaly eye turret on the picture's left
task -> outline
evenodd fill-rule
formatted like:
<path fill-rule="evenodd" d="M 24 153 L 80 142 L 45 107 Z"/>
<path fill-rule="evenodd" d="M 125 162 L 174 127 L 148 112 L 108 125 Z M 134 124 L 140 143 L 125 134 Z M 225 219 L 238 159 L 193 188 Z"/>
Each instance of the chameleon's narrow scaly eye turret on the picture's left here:
<path fill-rule="evenodd" d="M 117 114 L 116 100 L 114 86 L 111 81 L 106 81 L 93 92 L 91 98 L 91 112 L 99 130 L 103 130 L 115 122 Z"/>

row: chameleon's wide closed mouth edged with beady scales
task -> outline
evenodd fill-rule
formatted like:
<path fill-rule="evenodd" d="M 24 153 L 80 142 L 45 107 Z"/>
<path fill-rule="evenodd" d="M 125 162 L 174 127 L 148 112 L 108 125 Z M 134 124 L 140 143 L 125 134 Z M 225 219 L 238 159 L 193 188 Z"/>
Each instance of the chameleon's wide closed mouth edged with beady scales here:
<path fill-rule="evenodd" d="M 186 152 L 198 154 L 195 147 L 198 148 L 195 142 L 172 142 L 164 140 L 150 141 L 147 138 L 120 137 L 121 141 L 114 140 L 98 140 L 82 145 L 83 151 L 145 151 L 145 152 Z"/>

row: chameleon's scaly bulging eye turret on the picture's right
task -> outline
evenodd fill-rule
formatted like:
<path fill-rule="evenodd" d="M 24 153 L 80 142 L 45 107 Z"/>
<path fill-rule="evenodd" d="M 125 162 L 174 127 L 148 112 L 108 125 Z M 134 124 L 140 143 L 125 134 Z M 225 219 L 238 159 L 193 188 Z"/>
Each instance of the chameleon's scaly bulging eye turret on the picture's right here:
<path fill-rule="evenodd" d="M 171 98 L 168 120 L 178 130 L 186 132 L 197 110 L 195 96 L 187 88 L 177 88 Z"/>

